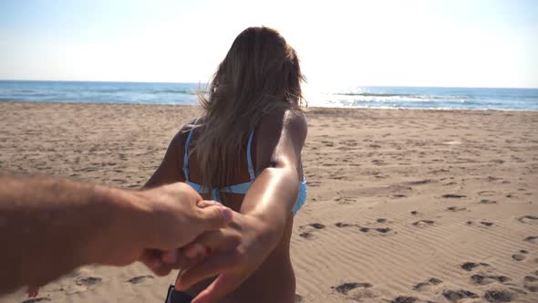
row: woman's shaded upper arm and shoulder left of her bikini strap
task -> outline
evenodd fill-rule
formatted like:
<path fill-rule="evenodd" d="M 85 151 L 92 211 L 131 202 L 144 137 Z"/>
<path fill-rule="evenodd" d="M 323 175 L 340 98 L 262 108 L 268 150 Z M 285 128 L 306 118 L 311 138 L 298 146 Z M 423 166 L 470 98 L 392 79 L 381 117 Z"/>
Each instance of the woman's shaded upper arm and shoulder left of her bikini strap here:
<path fill-rule="evenodd" d="M 168 147 L 168 150 L 164 154 L 164 159 L 157 168 L 157 171 L 153 172 L 150 180 L 144 186 L 143 189 L 153 188 L 160 185 L 185 182 L 185 176 L 183 174 L 183 154 L 184 154 L 184 137 L 187 133 L 183 129 L 179 131 Z"/>

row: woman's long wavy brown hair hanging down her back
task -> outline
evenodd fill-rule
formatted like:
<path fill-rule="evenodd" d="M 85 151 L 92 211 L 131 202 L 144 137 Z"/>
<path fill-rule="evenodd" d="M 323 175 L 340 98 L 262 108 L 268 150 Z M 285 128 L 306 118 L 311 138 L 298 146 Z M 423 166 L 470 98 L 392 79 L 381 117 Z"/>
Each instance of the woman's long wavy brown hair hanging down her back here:
<path fill-rule="evenodd" d="M 204 188 L 231 185 L 248 136 L 264 114 L 278 107 L 301 110 L 304 80 L 295 49 L 276 30 L 249 27 L 235 38 L 208 96 L 199 95 L 204 111 L 192 126 L 201 129 L 193 151 Z"/>

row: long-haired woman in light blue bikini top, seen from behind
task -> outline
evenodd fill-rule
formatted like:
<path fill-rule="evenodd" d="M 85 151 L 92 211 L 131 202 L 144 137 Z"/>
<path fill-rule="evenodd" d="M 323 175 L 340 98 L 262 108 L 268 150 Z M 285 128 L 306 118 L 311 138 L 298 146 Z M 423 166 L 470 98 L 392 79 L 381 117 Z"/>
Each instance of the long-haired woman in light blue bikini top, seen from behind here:
<path fill-rule="evenodd" d="M 302 80 L 284 37 L 249 27 L 219 65 L 209 98 L 200 97 L 202 117 L 171 141 L 146 186 L 183 181 L 203 199 L 240 213 L 229 227 L 197 240 L 208 251 L 220 248 L 218 237 L 241 238 L 231 252 L 184 270 L 176 284 L 181 292 L 172 290 L 171 302 L 294 301 L 290 236 L 306 195 Z"/>

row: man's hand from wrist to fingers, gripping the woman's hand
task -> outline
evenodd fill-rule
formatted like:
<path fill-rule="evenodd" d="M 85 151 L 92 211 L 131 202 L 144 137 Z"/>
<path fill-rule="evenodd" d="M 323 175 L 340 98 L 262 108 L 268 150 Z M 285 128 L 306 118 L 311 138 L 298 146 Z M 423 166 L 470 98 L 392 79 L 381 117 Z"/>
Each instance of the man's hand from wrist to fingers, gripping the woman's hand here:
<path fill-rule="evenodd" d="M 233 211 L 222 204 L 198 207 L 200 194 L 185 183 L 173 183 L 127 196 L 135 214 L 119 215 L 119 234 L 111 239 L 115 249 L 106 250 L 98 263 L 124 266 L 136 260 L 159 276 L 167 275 L 171 263 L 164 255 L 186 246 L 205 231 L 218 230 L 233 218 Z M 111 247 L 111 246 L 110 246 Z"/>

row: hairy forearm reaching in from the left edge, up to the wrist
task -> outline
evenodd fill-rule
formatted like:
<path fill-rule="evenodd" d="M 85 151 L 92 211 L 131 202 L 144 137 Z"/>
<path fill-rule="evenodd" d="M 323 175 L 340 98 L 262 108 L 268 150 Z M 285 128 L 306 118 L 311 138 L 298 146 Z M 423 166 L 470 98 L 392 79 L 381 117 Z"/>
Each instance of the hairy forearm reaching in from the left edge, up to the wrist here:
<path fill-rule="evenodd" d="M 0 293 L 98 262 L 132 206 L 119 190 L 51 177 L 0 174 L 0 184 Z"/>

